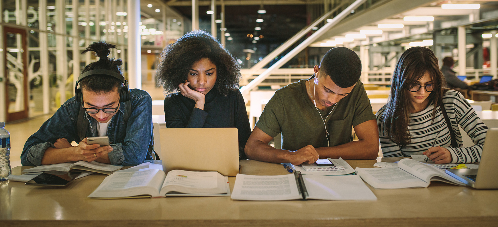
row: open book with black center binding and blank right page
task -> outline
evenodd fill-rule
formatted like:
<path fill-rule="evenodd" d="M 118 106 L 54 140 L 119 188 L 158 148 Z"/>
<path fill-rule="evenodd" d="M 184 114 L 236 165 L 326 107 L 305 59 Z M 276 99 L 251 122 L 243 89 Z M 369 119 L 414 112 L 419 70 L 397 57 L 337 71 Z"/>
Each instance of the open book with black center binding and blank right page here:
<path fill-rule="evenodd" d="M 377 200 L 357 175 L 325 176 L 294 174 L 255 176 L 237 174 L 234 200 Z"/>

